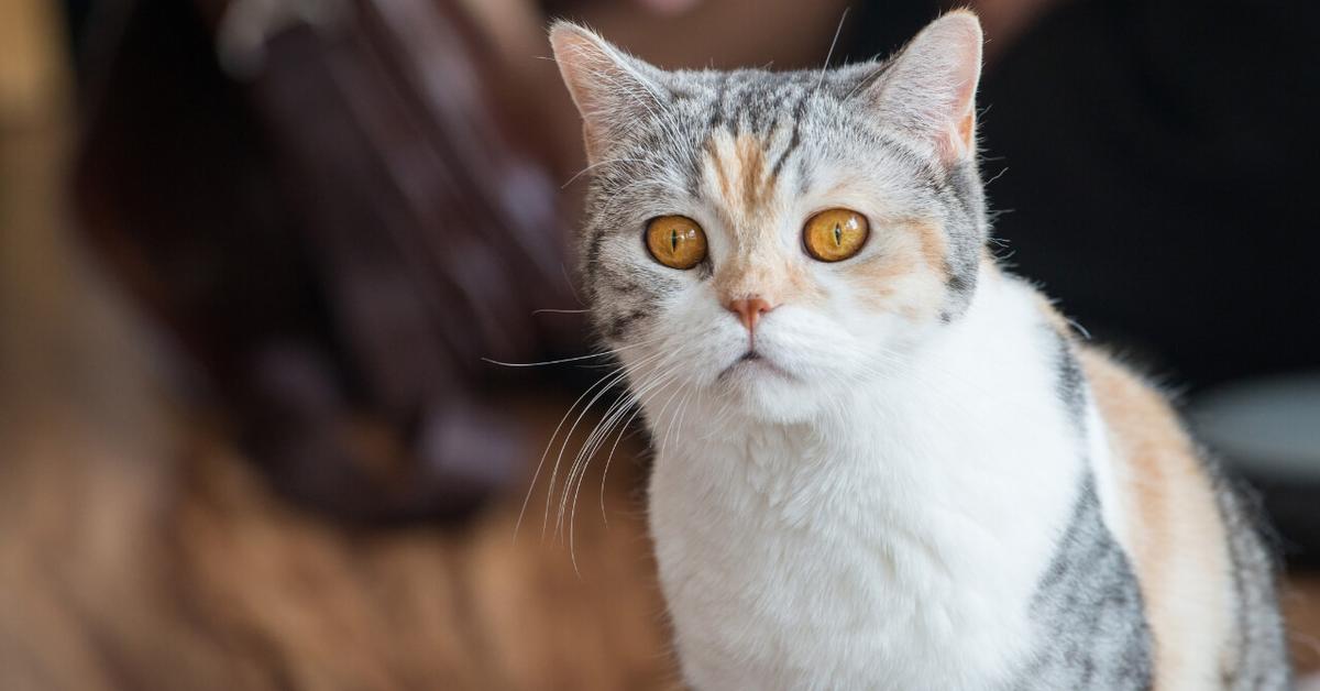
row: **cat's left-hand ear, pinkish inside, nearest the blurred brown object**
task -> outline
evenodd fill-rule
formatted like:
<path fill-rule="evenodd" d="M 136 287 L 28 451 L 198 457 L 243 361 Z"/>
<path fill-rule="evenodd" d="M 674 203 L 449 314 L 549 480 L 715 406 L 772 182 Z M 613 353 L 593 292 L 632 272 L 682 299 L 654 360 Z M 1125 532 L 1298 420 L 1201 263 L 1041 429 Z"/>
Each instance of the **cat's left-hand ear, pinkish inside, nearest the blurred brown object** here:
<path fill-rule="evenodd" d="M 589 164 L 597 164 L 622 129 L 652 111 L 663 73 L 569 21 L 550 26 L 554 62 L 582 114 Z"/>

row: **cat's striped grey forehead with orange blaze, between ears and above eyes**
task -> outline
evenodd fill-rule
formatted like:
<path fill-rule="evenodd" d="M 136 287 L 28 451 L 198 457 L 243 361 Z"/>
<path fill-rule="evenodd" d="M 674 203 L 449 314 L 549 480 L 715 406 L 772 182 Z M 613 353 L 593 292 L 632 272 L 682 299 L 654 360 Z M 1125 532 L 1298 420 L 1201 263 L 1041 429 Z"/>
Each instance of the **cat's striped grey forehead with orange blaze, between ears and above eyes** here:
<path fill-rule="evenodd" d="M 850 99 L 879 70 L 669 73 L 671 98 L 634 123 L 618 163 L 598 170 L 603 196 L 615 206 L 619 190 L 659 206 L 704 200 L 737 227 L 840 174 L 861 176 L 863 160 L 878 174 L 890 159 L 876 151 L 883 132 Z M 639 210 L 668 213 L 659 206 Z"/>

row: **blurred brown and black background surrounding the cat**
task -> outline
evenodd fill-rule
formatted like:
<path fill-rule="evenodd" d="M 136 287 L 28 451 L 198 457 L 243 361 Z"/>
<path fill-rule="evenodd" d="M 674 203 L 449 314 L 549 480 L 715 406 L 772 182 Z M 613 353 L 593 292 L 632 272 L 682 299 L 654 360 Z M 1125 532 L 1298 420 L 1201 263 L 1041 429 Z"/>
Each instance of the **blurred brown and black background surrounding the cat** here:
<path fill-rule="evenodd" d="M 1316 5 L 970 5 L 997 254 L 1261 488 L 1320 667 Z M 562 530 L 536 473 L 609 370 L 483 361 L 591 349 L 546 22 L 793 69 L 948 7 L 0 1 L 0 688 L 677 687 L 644 436 Z"/>

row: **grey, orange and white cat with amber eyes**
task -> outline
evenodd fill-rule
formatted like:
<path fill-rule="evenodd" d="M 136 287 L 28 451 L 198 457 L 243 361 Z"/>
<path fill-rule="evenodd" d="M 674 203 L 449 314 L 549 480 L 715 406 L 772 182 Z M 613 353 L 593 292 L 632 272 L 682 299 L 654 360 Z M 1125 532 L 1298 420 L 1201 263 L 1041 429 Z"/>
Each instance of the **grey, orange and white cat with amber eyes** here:
<path fill-rule="evenodd" d="M 974 13 L 810 71 L 550 42 L 692 687 L 1290 686 L 1246 502 L 987 251 Z"/>

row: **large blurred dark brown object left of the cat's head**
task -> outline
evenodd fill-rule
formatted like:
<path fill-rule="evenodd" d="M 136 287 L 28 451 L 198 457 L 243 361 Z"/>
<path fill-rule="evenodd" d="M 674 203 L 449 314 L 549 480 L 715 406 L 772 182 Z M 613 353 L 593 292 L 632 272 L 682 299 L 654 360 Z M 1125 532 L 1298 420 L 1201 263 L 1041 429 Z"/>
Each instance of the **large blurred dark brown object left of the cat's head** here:
<path fill-rule="evenodd" d="M 572 300 L 550 155 L 459 4 L 120 5 L 91 37 L 82 225 L 248 449 L 354 518 L 507 484 L 527 455 L 482 358 L 581 330 L 532 320 Z"/>

